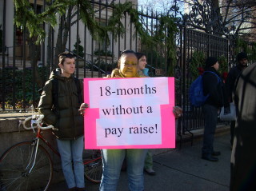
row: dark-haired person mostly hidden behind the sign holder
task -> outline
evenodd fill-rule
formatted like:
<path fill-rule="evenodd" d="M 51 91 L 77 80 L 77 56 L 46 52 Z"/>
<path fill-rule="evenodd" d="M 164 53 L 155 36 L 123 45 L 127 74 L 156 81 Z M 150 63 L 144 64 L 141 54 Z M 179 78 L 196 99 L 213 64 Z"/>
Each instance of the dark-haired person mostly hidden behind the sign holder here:
<path fill-rule="evenodd" d="M 138 58 L 138 74 L 145 75 L 146 77 L 149 77 L 149 69 L 146 68 L 147 62 L 146 62 L 146 54 L 143 53 L 136 53 Z M 149 175 L 154 176 L 155 171 L 153 169 L 153 154 L 150 149 L 148 149 L 146 153 L 145 158 L 145 164 L 144 164 L 144 170 Z"/>

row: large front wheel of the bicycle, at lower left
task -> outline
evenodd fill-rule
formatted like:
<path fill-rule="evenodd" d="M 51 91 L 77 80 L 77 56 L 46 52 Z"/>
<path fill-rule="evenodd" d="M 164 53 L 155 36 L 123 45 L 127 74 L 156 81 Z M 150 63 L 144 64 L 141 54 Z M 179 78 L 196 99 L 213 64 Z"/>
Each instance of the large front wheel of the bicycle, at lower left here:
<path fill-rule="evenodd" d="M 20 142 L 7 149 L 0 158 L 0 190 L 32 191 L 47 190 L 53 174 L 49 153 L 38 145 L 34 168 L 35 145 L 33 141 Z M 30 171 L 31 170 L 31 171 Z"/>

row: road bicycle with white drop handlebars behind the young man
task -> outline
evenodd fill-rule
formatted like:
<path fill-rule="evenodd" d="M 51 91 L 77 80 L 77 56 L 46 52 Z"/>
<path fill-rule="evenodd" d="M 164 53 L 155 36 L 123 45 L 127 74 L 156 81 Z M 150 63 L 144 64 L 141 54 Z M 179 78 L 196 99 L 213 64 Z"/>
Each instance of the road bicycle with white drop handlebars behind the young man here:
<path fill-rule="evenodd" d="M 52 125 L 42 126 L 43 117 L 43 115 L 33 115 L 20 121 L 19 125 L 24 129 L 37 129 L 37 134 L 32 141 L 22 141 L 12 145 L 0 157 L 0 191 L 49 189 L 53 177 L 53 161 L 44 145 L 47 145 L 58 157 L 60 154 L 42 136 L 42 130 L 54 129 Z M 26 123 L 30 120 L 31 126 L 27 127 Z M 39 141 L 45 144 L 39 144 Z M 100 150 L 90 151 L 90 156 L 83 159 L 84 176 L 91 182 L 99 183 L 102 178 L 102 156 Z"/>

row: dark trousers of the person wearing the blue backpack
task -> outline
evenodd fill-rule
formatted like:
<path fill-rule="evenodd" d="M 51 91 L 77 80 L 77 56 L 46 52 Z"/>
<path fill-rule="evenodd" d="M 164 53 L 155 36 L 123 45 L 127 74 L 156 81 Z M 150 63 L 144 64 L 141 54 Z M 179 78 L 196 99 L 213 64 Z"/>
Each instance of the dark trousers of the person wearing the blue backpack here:
<path fill-rule="evenodd" d="M 218 120 L 218 108 L 205 104 L 202 106 L 202 111 L 205 117 L 202 154 L 211 154 L 214 152 L 214 134 Z"/>

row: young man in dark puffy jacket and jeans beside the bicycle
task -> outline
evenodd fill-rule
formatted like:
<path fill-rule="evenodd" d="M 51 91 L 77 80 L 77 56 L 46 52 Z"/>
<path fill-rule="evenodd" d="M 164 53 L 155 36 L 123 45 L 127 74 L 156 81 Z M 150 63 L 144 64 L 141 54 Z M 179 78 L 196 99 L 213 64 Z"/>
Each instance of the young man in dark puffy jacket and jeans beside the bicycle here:
<path fill-rule="evenodd" d="M 54 125 L 62 170 L 69 190 L 85 190 L 83 117 L 78 110 L 82 104 L 82 83 L 74 78 L 74 54 L 58 55 L 58 69 L 50 74 L 42 89 L 38 104 L 39 113 L 47 125 Z M 87 107 L 87 105 L 85 105 Z"/>

